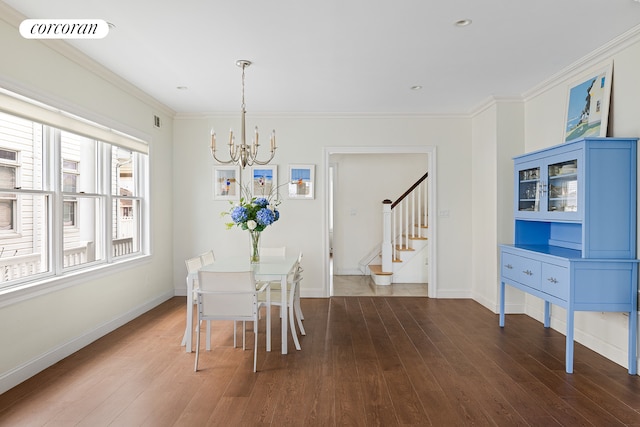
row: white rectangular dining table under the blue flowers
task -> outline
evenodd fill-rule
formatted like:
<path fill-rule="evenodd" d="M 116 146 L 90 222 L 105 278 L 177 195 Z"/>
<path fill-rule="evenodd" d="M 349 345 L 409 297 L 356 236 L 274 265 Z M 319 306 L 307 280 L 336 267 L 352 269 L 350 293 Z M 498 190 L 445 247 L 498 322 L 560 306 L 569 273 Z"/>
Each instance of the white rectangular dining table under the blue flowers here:
<path fill-rule="evenodd" d="M 216 258 L 216 260 L 198 271 L 234 272 L 253 270 L 256 281 L 272 282 L 280 281 L 281 290 L 281 310 L 285 313 L 287 307 L 287 276 L 295 267 L 297 256 L 261 256 L 260 262 L 250 263 L 247 256 L 232 256 Z M 191 352 L 193 338 L 193 281 L 198 278 L 198 273 L 187 275 L 187 326 L 185 328 L 182 345 L 186 347 L 187 353 Z M 280 319 L 282 334 L 282 354 L 287 354 L 287 334 L 288 322 L 286 314 Z M 271 351 L 271 332 L 267 331 L 267 351 Z"/>

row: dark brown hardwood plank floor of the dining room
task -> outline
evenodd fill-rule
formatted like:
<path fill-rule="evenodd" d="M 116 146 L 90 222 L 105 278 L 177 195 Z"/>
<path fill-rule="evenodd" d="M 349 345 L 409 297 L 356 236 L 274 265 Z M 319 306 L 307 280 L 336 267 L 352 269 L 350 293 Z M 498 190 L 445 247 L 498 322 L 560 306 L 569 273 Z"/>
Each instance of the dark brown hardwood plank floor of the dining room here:
<path fill-rule="evenodd" d="M 414 297 L 302 308 L 302 351 L 267 354 L 261 323 L 254 374 L 214 322 L 194 373 L 173 298 L 0 395 L 0 425 L 640 426 L 640 377 L 579 344 L 566 374 L 564 336 L 527 316 L 501 329 L 474 301 Z"/>

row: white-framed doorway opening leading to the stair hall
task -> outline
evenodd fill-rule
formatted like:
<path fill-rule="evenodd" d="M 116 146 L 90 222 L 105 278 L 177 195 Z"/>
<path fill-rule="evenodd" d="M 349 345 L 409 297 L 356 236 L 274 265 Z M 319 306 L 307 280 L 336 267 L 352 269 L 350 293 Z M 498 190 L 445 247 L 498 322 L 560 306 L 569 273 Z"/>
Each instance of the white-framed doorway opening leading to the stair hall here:
<path fill-rule="evenodd" d="M 325 296 L 435 296 L 435 147 L 325 147 L 324 161 Z M 424 249 L 428 286 L 424 281 L 375 285 L 366 264 L 359 263 L 381 243 L 382 200 L 399 197 L 406 190 L 402 186 L 410 186 L 425 170 L 429 172 L 429 239 Z"/>

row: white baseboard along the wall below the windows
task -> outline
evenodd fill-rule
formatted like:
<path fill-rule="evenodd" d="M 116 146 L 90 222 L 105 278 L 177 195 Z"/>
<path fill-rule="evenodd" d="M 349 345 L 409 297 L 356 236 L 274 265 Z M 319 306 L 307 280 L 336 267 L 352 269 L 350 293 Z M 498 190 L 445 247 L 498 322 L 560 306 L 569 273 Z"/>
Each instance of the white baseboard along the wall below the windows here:
<path fill-rule="evenodd" d="M 162 304 L 163 302 L 172 298 L 173 295 L 173 291 L 166 292 L 159 297 L 154 298 L 153 300 L 148 301 L 138 307 L 135 307 L 134 309 L 123 313 L 121 316 L 96 327 L 92 331 L 80 335 L 71 341 L 60 344 L 59 346 L 52 348 L 47 353 L 44 353 L 4 373 L 2 376 L 0 376 L 0 394 L 6 392 L 7 390 L 10 390 L 21 382 L 47 369 L 48 367 L 61 361 L 65 357 L 80 350 L 81 348 L 86 347 L 95 340 L 105 336 L 109 332 L 118 329 L 120 326 L 126 324 L 127 322 L 130 322 L 136 317 Z"/>

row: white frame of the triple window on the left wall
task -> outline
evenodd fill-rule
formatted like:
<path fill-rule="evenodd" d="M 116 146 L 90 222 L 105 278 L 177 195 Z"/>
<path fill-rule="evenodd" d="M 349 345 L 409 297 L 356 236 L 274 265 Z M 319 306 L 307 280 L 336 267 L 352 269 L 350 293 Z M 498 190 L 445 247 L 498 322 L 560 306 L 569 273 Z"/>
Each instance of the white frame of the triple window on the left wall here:
<path fill-rule="evenodd" d="M 42 157 L 45 161 L 42 164 L 42 186 L 36 189 L 19 188 L 18 179 L 20 174 L 16 176 L 16 198 L 19 201 L 21 194 L 40 194 L 48 200 L 46 210 L 48 214 L 42 217 L 49 224 L 48 239 L 46 251 L 51 254 L 48 257 L 48 268 L 44 273 L 26 276 L 25 280 L 16 280 L 10 282 L 0 282 L 0 307 L 6 304 L 12 304 L 17 300 L 29 298 L 31 295 L 38 295 L 43 292 L 58 290 L 75 283 L 82 283 L 91 277 L 104 274 L 105 271 L 121 270 L 130 268 L 141 262 L 146 262 L 146 258 L 150 256 L 150 234 L 149 234 L 149 156 L 147 143 L 136 137 L 128 136 L 124 133 L 109 129 L 105 126 L 98 125 L 89 120 L 84 120 L 73 114 L 64 111 L 43 106 L 36 101 L 31 101 L 20 95 L 13 94 L 0 88 L 0 112 L 9 115 L 21 117 L 31 120 L 35 123 L 43 125 L 42 137 Z M 100 183 L 98 193 L 82 194 L 83 197 L 96 197 L 103 199 L 101 207 L 104 206 L 103 215 L 107 229 L 102 230 L 104 239 L 105 256 L 100 262 L 93 262 L 76 266 L 73 269 L 62 267 L 62 238 L 63 238 L 63 203 L 65 196 L 69 197 L 71 193 L 63 192 L 62 183 L 62 162 L 55 159 L 60 153 L 59 130 L 65 130 L 72 133 L 98 141 L 98 149 L 96 150 L 96 158 L 99 162 L 96 164 L 97 179 Z M 53 141 L 52 141 L 53 139 Z M 53 144 L 51 143 L 53 142 Z M 55 145 L 57 144 L 57 148 Z M 0 141 L 0 146 L 2 142 Z M 140 202 L 140 219 L 139 219 L 139 243 L 138 250 L 128 256 L 120 256 L 114 258 L 111 254 L 112 236 L 110 232 L 111 217 L 110 212 L 112 206 L 113 195 L 109 191 L 110 183 L 110 156 L 104 155 L 110 152 L 110 147 L 121 146 L 132 150 L 136 153 L 139 167 L 136 176 L 136 188 L 139 190 L 133 199 Z M 103 155 L 101 155 L 102 153 Z M 17 167 L 20 167 L 18 162 Z M 65 171 L 66 172 L 66 171 Z M 5 189 L 5 192 L 8 189 Z M 12 191 L 13 193 L 13 191 Z M 128 197 L 127 197 L 128 198 Z M 20 215 L 17 215 L 19 217 Z M 76 214 L 76 223 L 78 215 Z M 15 224 L 18 221 L 14 222 Z M 59 249 L 58 249 L 59 248 Z"/>

